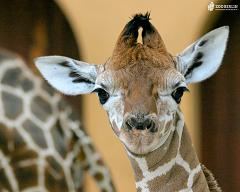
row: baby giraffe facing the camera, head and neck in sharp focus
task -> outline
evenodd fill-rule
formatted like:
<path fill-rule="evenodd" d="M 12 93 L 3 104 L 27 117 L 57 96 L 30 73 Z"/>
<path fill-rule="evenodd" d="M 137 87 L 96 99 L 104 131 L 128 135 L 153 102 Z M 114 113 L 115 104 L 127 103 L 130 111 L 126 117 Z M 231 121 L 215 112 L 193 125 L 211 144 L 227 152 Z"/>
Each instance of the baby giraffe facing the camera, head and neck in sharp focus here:
<path fill-rule="evenodd" d="M 179 103 L 188 84 L 217 71 L 229 29 L 215 29 L 172 56 L 149 20 L 148 13 L 135 15 L 105 64 L 47 56 L 36 66 L 64 94 L 98 94 L 126 148 L 138 192 L 221 191 L 199 163 Z"/>

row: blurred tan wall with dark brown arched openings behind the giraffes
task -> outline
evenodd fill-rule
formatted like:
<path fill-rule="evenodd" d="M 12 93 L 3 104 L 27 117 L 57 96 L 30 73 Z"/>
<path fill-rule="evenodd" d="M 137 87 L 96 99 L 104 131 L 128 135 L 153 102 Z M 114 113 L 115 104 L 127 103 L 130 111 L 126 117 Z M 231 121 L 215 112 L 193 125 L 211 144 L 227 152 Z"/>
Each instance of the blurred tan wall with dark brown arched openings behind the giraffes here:
<path fill-rule="evenodd" d="M 9 0 L 0 6 L 0 47 L 22 56 L 36 73 L 33 58 L 60 54 L 89 63 L 107 60 L 129 17 L 151 11 L 172 54 L 181 52 L 205 32 L 230 26 L 230 39 L 220 71 L 202 84 L 191 85 L 181 108 L 201 161 L 224 191 L 240 189 L 240 15 L 237 11 L 208 11 L 209 0 Z M 238 4 L 238 1 L 214 1 Z M 95 95 L 68 100 L 104 160 L 117 191 L 135 191 L 127 155 L 113 134 Z M 98 191 L 89 176 L 86 191 Z"/>

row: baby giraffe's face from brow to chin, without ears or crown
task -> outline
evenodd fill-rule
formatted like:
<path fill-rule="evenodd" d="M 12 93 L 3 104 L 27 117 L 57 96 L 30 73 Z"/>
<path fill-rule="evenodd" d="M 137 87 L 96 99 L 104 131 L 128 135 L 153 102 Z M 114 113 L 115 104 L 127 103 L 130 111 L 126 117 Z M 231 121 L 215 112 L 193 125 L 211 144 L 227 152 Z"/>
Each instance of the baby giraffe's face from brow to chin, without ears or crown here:
<path fill-rule="evenodd" d="M 184 76 L 171 66 L 173 63 L 152 68 L 148 62 L 136 63 L 116 71 L 107 69 L 96 79 L 94 92 L 115 134 L 132 153 L 157 149 L 174 126 L 187 85 Z"/>

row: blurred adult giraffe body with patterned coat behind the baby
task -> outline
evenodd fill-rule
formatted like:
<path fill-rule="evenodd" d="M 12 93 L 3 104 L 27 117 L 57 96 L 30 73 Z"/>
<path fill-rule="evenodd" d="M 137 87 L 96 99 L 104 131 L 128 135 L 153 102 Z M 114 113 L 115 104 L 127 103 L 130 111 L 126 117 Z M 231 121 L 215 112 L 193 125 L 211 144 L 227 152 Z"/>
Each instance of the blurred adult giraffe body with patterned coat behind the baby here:
<path fill-rule="evenodd" d="M 65 99 L 24 61 L 0 51 L 0 191 L 82 192 L 84 171 L 99 191 L 111 177 Z"/>

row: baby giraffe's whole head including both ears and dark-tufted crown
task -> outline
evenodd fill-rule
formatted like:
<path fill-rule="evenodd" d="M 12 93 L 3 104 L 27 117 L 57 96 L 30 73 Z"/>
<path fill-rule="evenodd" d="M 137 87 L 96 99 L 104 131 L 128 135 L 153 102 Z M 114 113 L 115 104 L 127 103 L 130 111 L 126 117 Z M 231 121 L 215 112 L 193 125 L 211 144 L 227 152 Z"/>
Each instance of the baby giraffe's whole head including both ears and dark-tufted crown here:
<path fill-rule="evenodd" d="M 124 27 L 105 64 L 62 56 L 39 57 L 35 63 L 45 79 L 64 94 L 97 93 L 127 150 L 147 154 L 160 147 L 174 128 L 188 84 L 217 71 L 228 33 L 228 27 L 215 29 L 172 56 L 149 14 L 138 14 Z"/>

